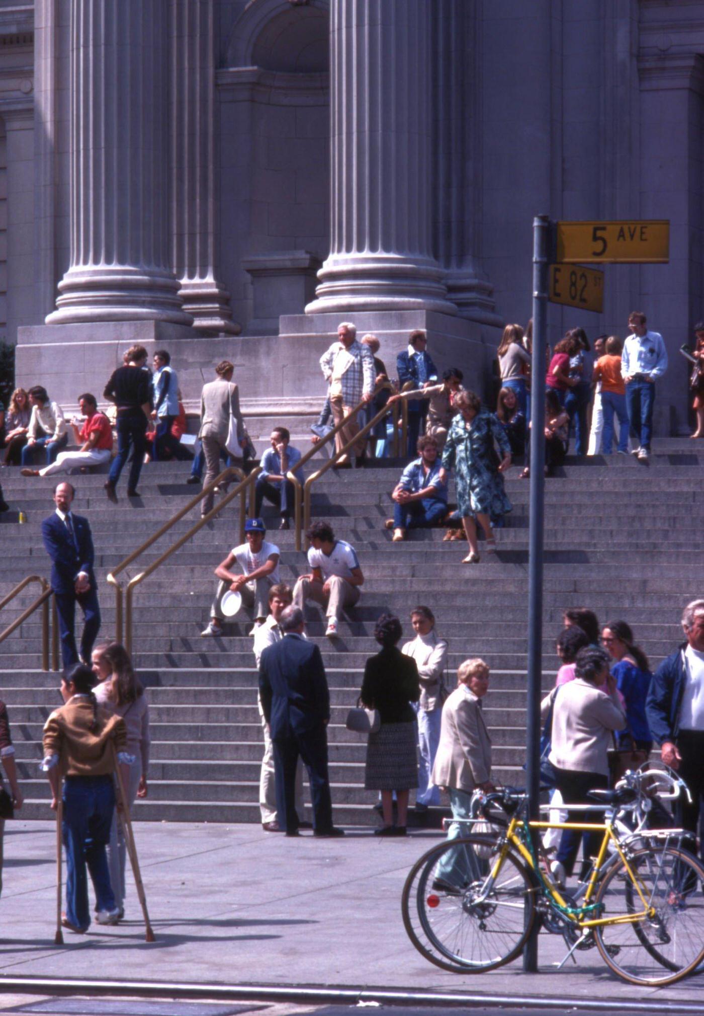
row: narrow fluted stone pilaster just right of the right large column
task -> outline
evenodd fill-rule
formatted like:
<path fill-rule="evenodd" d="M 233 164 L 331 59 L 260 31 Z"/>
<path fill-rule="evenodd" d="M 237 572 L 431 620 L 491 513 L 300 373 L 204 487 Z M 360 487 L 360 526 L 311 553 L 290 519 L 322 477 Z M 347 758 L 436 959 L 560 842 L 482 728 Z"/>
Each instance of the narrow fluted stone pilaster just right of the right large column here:
<path fill-rule="evenodd" d="M 448 298 L 459 314 L 503 324 L 495 313 L 494 288 L 479 262 L 482 25 L 475 5 L 465 0 L 435 0 L 434 10 L 434 251 L 445 269 Z"/>

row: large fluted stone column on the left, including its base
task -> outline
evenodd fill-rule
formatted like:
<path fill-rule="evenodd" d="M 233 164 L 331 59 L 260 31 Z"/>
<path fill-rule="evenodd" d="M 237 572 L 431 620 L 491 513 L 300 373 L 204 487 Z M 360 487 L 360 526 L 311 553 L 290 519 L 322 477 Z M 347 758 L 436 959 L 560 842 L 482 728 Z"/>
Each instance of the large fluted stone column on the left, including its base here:
<path fill-rule="evenodd" d="M 167 14 L 71 0 L 71 261 L 48 323 L 192 322 L 170 266 Z"/>

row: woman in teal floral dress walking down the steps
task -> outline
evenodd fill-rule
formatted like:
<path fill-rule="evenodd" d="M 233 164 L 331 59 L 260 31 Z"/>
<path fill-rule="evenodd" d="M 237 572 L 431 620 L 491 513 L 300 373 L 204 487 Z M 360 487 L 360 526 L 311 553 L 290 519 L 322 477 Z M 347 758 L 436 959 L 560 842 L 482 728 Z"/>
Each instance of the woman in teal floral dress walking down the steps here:
<path fill-rule="evenodd" d="M 454 405 L 459 414 L 452 421 L 440 475 L 447 481 L 447 473 L 454 466 L 457 488 L 457 513 L 462 519 L 469 544 L 469 554 L 463 564 L 476 564 L 476 523 L 487 537 L 487 553 L 496 552 L 492 519 L 496 522 L 511 511 L 511 502 L 504 491 L 504 472 L 511 465 L 511 446 L 506 433 L 496 417 L 482 407 L 482 401 L 471 391 L 455 396 Z M 503 458 L 496 450 L 499 446 Z"/>

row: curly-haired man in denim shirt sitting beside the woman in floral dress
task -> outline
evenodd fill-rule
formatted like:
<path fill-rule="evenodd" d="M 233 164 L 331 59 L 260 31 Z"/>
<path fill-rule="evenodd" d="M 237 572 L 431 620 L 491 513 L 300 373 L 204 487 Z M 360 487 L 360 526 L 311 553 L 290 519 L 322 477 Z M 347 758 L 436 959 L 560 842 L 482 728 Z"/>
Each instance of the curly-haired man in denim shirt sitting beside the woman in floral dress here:
<path fill-rule="evenodd" d="M 395 507 L 386 528 L 393 527 L 394 544 L 405 538 L 406 529 L 439 525 L 447 514 L 447 484 L 440 479 L 438 442 L 422 437 L 417 448 L 421 457 L 406 465 L 391 495 Z"/>

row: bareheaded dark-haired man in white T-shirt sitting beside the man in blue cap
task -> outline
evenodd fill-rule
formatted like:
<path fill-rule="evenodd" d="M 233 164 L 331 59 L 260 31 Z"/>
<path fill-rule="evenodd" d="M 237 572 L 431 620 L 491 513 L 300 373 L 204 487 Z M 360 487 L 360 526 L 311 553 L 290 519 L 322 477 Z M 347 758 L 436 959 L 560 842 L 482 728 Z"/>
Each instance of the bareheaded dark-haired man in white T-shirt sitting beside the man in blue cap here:
<path fill-rule="evenodd" d="M 294 604 L 304 610 L 307 599 L 325 607 L 328 638 L 337 635 L 342 610 L 360 598 L 365 577 L 355 548 L 335 539 L 329 522 L 314 522 L 306 536 L 312 547 L 308 552 L 309 575 L 301 575 L 294 587 Z"/>

